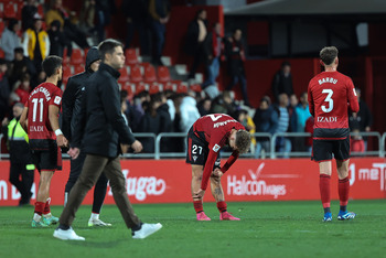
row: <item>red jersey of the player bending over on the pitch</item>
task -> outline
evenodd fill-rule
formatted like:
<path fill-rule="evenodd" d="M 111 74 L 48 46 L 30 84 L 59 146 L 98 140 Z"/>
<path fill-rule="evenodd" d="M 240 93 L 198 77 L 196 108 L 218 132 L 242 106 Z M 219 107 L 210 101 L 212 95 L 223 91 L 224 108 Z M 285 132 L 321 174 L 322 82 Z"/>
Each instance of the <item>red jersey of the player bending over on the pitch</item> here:
<path fill-rule="evenodd" d="M 201 183 L 202 190 L 206 190 L 207 181 L 212 174 L 212 169 L 218 151 L 227 143 L 232 129 L 245 130 L 245 127 L 233 117 L 225 114 L 211 114 L 199 118 L 199 120 L 193 123 L 194 133 L 203 141 L 206 141 L 210 149 Z M 237 158 L 238 152 L 234 151 L 223 165 L 222 172 L 225 173 Z"/>

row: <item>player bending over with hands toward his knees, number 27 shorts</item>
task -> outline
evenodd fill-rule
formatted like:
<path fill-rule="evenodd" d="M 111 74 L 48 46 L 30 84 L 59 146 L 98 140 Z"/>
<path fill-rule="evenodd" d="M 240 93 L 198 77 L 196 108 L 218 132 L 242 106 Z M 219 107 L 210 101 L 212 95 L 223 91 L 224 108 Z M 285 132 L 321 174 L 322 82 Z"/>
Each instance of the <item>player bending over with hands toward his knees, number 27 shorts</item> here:
<path fill-rule="evenodd" d="M 218 151 L 228 144 L 232 155 L 219 166 Z M 222 175 L 250 147 L 250 135 L 242 123 L 225 114 L 212 114 L 197 119 L 187 132 L 186 163 L 192 164 L 192 196 L 197 221 L 211 221 L 203 209 L 203 196 L 211 179 L 221 221 L 239 221 L 226 211 Z"/>

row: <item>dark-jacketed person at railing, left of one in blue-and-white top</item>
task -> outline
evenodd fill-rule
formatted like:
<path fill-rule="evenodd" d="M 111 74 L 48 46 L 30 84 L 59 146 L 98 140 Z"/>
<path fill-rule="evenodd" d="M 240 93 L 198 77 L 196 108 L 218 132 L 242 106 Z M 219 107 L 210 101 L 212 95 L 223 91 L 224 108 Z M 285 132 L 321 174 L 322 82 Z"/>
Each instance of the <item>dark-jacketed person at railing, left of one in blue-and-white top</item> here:
<path fill-rule="evenodd" d="M 256 132 L 269 132 L 274 135 L 278 128 L 278 112 L 271 106 L 270 98 L 268 96 L 262 97 L 254 116 Z M 269 138 L 265 137 L 258 137 L 256 141 L 255 158 L 258 159 L 261 150 L 266 153 L 270 151 L 270 141 Z"/>

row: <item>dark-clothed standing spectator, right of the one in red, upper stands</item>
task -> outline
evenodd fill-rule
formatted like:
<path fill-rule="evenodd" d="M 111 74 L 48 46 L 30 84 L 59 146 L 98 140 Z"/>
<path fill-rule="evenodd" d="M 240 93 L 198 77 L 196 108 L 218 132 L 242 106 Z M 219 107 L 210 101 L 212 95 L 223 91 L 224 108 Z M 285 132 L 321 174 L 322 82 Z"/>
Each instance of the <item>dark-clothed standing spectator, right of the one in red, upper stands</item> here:
<path fill-rule="evenodd" d="M 225 44 L 225 55 L 228 64 L 228 73 L 232 77 L 226 90 L 230 90 L 237 83 L 242 86 L 244 105 L 250 106 L 247 94 L 247 79 L 245 76 L 245 52 L 242 43 L 242 30 L 236 29 L 233 36 Z"/>

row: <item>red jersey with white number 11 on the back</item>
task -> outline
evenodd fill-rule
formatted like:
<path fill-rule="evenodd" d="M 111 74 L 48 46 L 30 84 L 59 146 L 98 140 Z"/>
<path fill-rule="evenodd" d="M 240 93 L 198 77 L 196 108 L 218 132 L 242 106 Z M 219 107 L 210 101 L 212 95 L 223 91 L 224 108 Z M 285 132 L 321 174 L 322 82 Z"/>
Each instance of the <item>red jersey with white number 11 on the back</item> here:
<path fill-rule="evenodd" d="M 55 132 L 49 119 L 49 106 L 61 107 L 62 89 L 51 83 L 42 83 L 32 90 L 25 107 L 28 114 L 28 135 L 30 140 L 55 140 Z"/>

